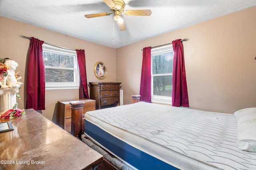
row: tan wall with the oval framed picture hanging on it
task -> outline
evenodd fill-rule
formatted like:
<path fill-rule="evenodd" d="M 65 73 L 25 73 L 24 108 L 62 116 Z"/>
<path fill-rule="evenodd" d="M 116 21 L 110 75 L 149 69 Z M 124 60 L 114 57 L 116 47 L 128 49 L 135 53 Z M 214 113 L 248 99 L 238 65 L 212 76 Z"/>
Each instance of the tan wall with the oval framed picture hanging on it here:
<path fill-rule="evenodd" d="M 104 81 L 116 81 L 115 49 L 28 25 L 26 23 L 10 20 L 1 16 L 0 23 L 0 58 L 8 57 L 15 60 L 19 64 L 16 71 L 20 71 L 20 76 L 22 76 L 20 81 L 24 82 L 24 85 L 20 88 L 19 92 L 22 100 L 17 100 L 18 108 L 23 109 L 26 107 L 26 66 L 28 63 L 27 55 L 30 43 L 28 39 L 20 38 L 19 35 L 36 37 L 46 43 L 64 48 L 85 49 L 87 81 L 102 82 L 102 80 L 99 80 L 94 76 L 93 72 L 94 64 L 97 61 L 102 61 L 107 66 L 108 73 Z M 78 100 L 78 89 L 46 90 L 45 98 L 46 110 L 43 110 L 42 114 L 53 122 L 56 122 L 57 101 Z"/>

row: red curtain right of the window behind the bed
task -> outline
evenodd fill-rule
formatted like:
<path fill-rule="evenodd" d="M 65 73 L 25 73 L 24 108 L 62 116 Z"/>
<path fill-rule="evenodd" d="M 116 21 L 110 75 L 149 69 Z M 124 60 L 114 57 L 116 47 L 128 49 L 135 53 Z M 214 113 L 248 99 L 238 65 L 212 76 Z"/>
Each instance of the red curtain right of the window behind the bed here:
<path fill-rule="evenodd" d="M 172 106 L 188 107 L 188 88 L 181 39 L 172 41 L 172 46 L 174 52 L 172 71 Z"/>

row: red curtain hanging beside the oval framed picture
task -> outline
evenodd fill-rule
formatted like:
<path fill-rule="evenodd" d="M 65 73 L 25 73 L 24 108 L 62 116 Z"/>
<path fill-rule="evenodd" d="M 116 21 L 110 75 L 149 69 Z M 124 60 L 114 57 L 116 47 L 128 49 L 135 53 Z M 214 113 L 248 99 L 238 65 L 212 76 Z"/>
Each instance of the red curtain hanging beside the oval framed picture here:
<path fill-rule="evenodd" d="M 79 99 L 89 98 L 87 78 L 86 78 L 86 66 L 85 66 L 85 54 L 84 50 L 76 50 L 78 66 L 80 71 L 80 87 L 79 87 Z"/>

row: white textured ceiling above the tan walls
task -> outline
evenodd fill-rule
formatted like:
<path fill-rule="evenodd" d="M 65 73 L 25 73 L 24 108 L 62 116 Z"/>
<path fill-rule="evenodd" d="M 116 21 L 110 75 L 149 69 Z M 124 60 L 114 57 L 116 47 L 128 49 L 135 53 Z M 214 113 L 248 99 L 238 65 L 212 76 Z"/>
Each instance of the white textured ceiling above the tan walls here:
<path fill-rule="evenodd" d="M 120 31 L 117 23 L 113 22 L 113 14 L 89 19 L 84 17 L 85 14 L 110 12 L 110 8 L 102 0 L 0 0 L 0 16 L 118 48 L 256 6 L 256 0 L 124 0 L 124 2 L 126 4 L 124 10 L 150 9 L 152 14 L 151 16 L 122 14 L 126 25 L 125 31 Z"/>

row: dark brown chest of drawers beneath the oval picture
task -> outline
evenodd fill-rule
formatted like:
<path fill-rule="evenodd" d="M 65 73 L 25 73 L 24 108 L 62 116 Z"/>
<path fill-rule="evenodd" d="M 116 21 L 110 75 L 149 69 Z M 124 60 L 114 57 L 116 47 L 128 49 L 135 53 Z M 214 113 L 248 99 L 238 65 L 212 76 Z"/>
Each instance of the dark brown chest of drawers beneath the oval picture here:
<path fill-rule="evenodd" d="M 89 82 L 90 99 L 96 100 L 96 109 L 115 107 L 120 102 L 120 84 L 115 82 Z"/>

